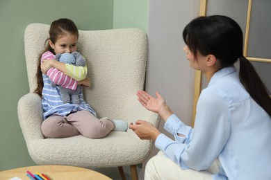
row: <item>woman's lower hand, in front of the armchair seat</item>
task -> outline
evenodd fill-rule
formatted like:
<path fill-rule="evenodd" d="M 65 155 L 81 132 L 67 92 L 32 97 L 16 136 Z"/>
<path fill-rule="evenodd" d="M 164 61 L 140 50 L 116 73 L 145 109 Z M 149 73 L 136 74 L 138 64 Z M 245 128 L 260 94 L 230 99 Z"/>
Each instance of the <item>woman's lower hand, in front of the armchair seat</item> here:
<path fill-rule="evenodd" d="M 155 141 L 158 135 L 161 134 L 154 125 L 151 125 L 151 123 L 145 120 L 137 120 L 136 124 L 130 123 L 129 128 L 132 129 L 140 139 L 152 139 Z"/>

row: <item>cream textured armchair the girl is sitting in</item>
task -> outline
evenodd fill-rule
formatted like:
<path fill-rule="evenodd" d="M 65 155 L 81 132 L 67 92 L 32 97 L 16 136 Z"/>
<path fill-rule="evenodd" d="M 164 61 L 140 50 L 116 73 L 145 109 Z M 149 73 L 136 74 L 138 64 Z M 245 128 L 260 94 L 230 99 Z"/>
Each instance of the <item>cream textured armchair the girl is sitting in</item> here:
<path fill-rule="evenodd" d="M 30 92 L 18 102 L 19 124 L 28 152 L 38 165 L 73 165 L 83 168 L 119 167 L 129 165 L 133 179 L 138 179 L 136 165 L 147 159 L 151 141 L 142 141 L 128 129 L 110 132 L 105 138 L 84 136 L 44 138 L 41 132 L 42 105 L 33 93 L 38 56 L 48 37 L 49 25 L 30 24 L 24 34 L 26 67 Z M 85 55 L 90 89 L 85 100 L 95 109 L 98 118 L 135 122 L 148 120 L 158 126 L 158 114 L 147 111 L 136 98 L 143 89 L 147 62 L 147 35 L 137 28 L 116 30 L 79 30 L 78 51 Z M 122 178 L 124 174 L 122 174 Z"/>

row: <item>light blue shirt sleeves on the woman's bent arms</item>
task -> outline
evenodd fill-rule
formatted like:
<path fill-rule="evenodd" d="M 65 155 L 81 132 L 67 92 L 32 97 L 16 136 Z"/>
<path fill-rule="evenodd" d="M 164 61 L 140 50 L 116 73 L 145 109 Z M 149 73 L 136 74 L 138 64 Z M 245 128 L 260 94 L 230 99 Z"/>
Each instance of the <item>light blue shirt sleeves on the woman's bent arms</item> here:
<path fill-rule="evenodd" d="M 175 115 L 165 123 L 175 141 L 160 134 L 155 145 L 183 169 L 206 170 L 222 152 L 230 134 L 227 100 L 202 91 L 197 104 L 195 127 L 190 129 Z M 181 122 L 181 123 L 180 123 Z M 176 137 L 182 134 L 185 137 Z"/>

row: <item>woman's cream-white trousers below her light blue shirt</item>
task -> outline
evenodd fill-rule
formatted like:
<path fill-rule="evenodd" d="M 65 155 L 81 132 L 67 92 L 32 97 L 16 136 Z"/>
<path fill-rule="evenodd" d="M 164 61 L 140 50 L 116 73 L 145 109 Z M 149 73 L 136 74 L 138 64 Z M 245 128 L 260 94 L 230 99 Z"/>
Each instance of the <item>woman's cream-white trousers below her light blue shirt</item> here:
<path fill-rule="evenodd" d="M 212 180 L 212 175 L 217 173 L 219 168 L 220 162 L 217 159 L 208 170 L 182 170 L 160 151 L 147 162 L 145 180 Z"/>

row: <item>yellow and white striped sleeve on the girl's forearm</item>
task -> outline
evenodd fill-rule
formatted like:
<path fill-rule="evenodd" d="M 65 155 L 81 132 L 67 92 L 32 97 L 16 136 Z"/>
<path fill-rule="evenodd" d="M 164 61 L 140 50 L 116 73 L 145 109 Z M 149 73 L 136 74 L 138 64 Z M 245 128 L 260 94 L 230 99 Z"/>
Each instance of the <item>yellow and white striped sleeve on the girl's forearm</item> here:
<path fill-rule="evenodd" d="M 67 68 L 66 75 L 74 78 L 77 81 L 85 80 L 88 73 L 87 66 L 74 66 L 72 64 L 65 64 Z"/>

